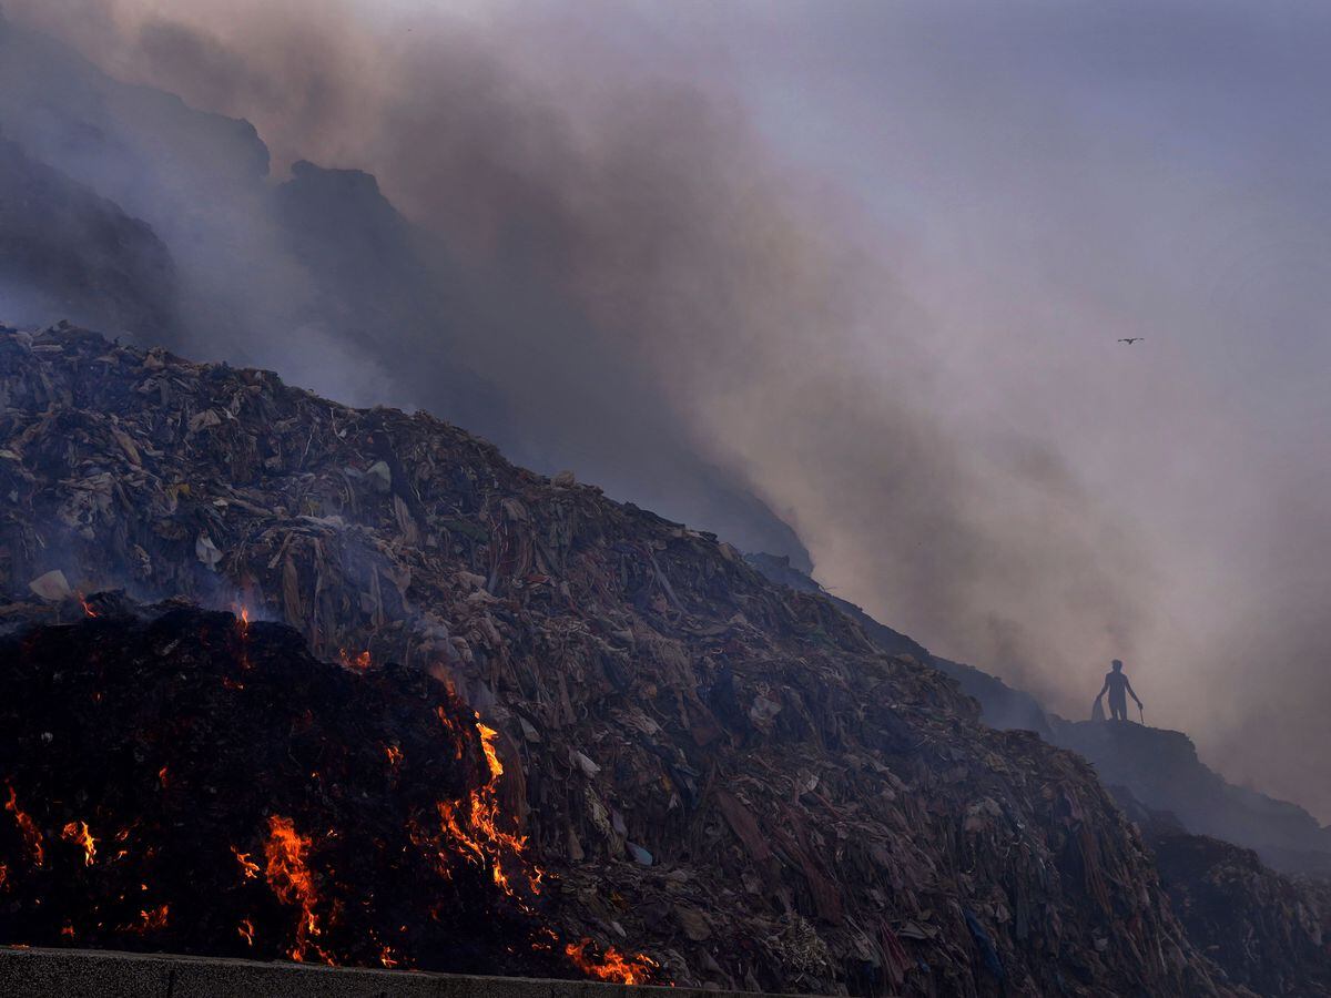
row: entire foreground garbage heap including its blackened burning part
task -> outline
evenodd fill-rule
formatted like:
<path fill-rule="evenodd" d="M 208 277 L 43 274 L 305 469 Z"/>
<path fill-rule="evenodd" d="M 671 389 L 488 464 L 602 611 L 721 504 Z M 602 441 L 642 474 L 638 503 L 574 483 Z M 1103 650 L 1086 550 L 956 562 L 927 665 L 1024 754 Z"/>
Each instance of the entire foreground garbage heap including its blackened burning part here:
<path fill-rule="evenodd" d="M 1243 993 L 1081 758 L 709 535 L 76 329 L 0 330 L 0 410 L 8 942 Z"/>

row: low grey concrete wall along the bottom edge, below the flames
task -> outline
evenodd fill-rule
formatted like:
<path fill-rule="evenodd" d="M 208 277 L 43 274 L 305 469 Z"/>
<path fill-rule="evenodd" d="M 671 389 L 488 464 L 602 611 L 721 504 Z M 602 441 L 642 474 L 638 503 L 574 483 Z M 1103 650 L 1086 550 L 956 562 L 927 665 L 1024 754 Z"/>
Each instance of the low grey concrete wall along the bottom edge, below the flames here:
<path fill-rule="evenodd" d="M 257 963 L 108 950 L 0 947 L 7 998 L 700 998 L 703 991 L 580 981 Z M 725 993 L 707 991 L 708 998 Z M 744 998 L 753 998 L 745 995 Z"/>

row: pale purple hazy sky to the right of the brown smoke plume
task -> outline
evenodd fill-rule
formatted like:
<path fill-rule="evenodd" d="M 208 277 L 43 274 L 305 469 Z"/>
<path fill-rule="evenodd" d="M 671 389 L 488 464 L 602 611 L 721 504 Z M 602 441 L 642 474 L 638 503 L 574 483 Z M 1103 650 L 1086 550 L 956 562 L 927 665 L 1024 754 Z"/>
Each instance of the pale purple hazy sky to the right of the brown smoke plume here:
<path fill-rule="evenodd" d="M 772 141 L 892 234 L 937 418 L 977 460 L 1002 460 L 1004 436 L 1050 442 L 1146 551 L 1129 668 L 1150 720 L 1331 817 L 1331 8 L 654 16 L 723 48 Z M 910 629 L 820 554 L 829 584 Z M 1101 667 L 1046 696 L 1079 716 Z"/>

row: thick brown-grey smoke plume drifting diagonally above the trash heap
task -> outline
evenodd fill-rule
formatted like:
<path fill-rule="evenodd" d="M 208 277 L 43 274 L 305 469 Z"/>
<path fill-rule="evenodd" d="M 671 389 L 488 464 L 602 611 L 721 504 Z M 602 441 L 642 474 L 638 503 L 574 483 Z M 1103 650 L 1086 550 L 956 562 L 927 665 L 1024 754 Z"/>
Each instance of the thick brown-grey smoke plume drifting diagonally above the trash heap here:
<path fill-rule="evenodd" d="M 406 0 L 387 13 L 347 0 L 9 0 L 8 9 L 113 76 L 254 122 L 278 174 L 301 160 L 373 173 L 405 216 L 369 178 L 310 169 L 276 200 L 228 186 L 206 238 L 172 232 L 141 197 L 132 210 L 149 217 L 194 301 L 209 305 L 182 349 L 273 366 L 353 402 L 425 406 L 522 463 L 571 466 L 744 547 L 797 550 L 765 504 L 795 527 L 837 595 L 1073 716 L 1087 709 L 1109 659 L 1149 659 L 1153 675 L 1134 679 L 1153 721 L 1189 728 L 1231 772 L 1331 813 L 1331 798 L 1310 789 L 1327 785 L 1324 769 L 1276 781 L 1291 747 L 1256 762 L 1226 754 L 1258 711 L 1191 692 L 1218 660 L 1236 661 L 1219 649 L 1235 629 L 1217 607 L 1233 607 L 1242 587 L 1218 584 L 1195 547 L 1162 540 L 1183 523 L 1201 536 L 1186 502 L 1146 514 L 1178 483 L 1175 454 L 1143 446 L 1150 468 L 1123 459 L 1125 444 L 1105 435 L 1095 411 L 1113 393 L 1089 389 L 1085 371 L 1133 377 L 1126 358 L 1106 362 L 1101 351 L 1141 333 L 1134 321 L 1159 302 L 1143 293 L 1123 307 L 1101 287 L 1074 287 L 1061 269 L 1083 257 L 1117 266 L 1122 246 L 1050 241 L 1067 251 L 1033 265 L 1044 267 L 1033 278 L 1009 259 L 968 257 L 978 250 L 961 237 L 944 240 L 940 254 L 889 236 L 860 201 L 773 152 L 756 117 L 771 108 L 752 108 L 739 71 L 620 5 L 579 16 L 466 5 L 425 13 Z M 704 32 L 703 8 L 687 9 L 703 17 L 693 33 Z M 719 17 L 728 37 L 749 31 Z M 888 63 L 918 59 L 906 51 L 914 29 Z M 930 73 L 954 68 L 938 57 Z M 929 77 L 900 72 L 893 92 L 917 93 Z M 835 138 L 820 128 L 788 145 Z M 1073 141 L 1057 129 L 1032 141 L 1034 128 L 1018 114 L 1005 141 L 1053 160 Z M 1032 180 L 1020 157 L 976 142 L 957 146 L 958 162 L 989 170 L 976 197 L 1002 198 L 1009 188 L 1017 197 L 1050 180 L 1040 162 Z M 948 172 L 954 164 L 934 169 L 910 153 L 902 169 L 960 184 Z M 198 193 L 189 172 L 170 177 L 181 197 Z M 1098 204 L 1095 192 L 1049 188 L 1067 194 L 1054 206 L 1078 234 L 1142 210 L 1115 204 L 1097 217 L 1082 208 Z M 1030 208 L 1013 204 L 1014 214 Z M 1028 218 L 1040 210 L 1049 205 L 1014 230 L 1038 228 Z M 291 217 L 306 236 L 317 221 L 337 244 L 321 244 L 322 269 L 284 234 Z M 1038 233 L 1030 241 L 1047 250 Z M 399 265 L 402 246 L 413 255 Z M 374 301 L 357 305 L 354 322 L 309 318 L 319 274 L 342 274 L 345 291 L 370 270 L 383 277 L 365 285 L 361 297 Z M 419 306 L 410 315 L 397 306 L 406 299 Z M 1069 345 L 1050 331 L 1067 314 L 1091 339 Z M 1030 359 L 1010 359 L 1013 337 Z M 1037 357 L 1055 343 L 1059 359 Z M 1174 426 L 1191 426 L 1189 414 L 1218 387 L 1181 389 L 1189 358 L 1162 347 L 1162 369 L 1133 399 L 1167 393 Z M 1010 411 L 997 399 L 1014 399 Z M 1189 444 L 1207 467 L 1222 460 L 1214 435 Z M 1106 500 L 1119 471 L 1133 480 Z M 1161 471 L 1161 492 L 1143 491 L 1142 471 Z M 1239 683 L 1242 673 L 1225 675 Z M 1314 720 L 1307 707 L 1300 716 Z"/>

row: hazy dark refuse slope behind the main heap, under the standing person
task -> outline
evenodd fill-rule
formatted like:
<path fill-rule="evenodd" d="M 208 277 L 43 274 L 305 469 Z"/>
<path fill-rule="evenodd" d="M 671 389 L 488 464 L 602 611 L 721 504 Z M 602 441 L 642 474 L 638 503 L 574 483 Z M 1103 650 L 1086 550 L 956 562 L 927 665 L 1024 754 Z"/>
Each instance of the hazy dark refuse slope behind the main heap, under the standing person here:
<path fill-rule="evenodd" d="M 860 607 L 825 593 L 787 559 L 745 558 L 773 582 L 827 595 L 885 651 L 953 676 L 980 704 L 986 724 L 1037 731 L 1089 758 L 1145 834 L 1189 938 L 1231 982 L 1267 995 L 1331 994 L 1331 882 L 1323 876 L 1331 870 L 1331 852 L 1324 846 L 1326 829 L 1311 814 L 1225 782 L 1201 762 L 1181 732 L 1075 723 L 1046 713 L 1028 693 L 974 667 L 940 659 Z M 1259 857 L 1251 849 L 1193 834 L 1190 826 L 1219 826 L 1240 841 L 1266 846 Z M 1314 873 L 1283 876 L 1263 860 Z"/>

